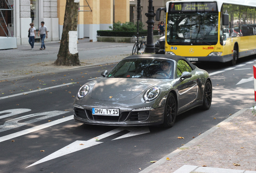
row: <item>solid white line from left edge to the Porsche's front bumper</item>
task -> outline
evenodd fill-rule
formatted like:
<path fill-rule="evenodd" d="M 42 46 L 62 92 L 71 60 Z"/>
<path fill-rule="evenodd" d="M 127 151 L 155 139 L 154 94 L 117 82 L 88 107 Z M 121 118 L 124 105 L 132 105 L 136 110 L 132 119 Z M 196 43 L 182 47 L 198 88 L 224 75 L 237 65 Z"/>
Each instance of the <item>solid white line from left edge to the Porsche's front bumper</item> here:
<path fill-rule="evenodd" d="M 34 131 L 38 131 L 38 130 L 41 130 L 41 129 L 45 129 L 47 127 L 51 127 L 51 126 L 54 126 L 54 125 L 57 125 L 57 124 L 60 124 L 60 123 L 63 123 L 63 122 L 66 122 L 66 121 L 69 121 L 69 120 L 72 120 L 74 117 L 74 115 L 70 115 L 68 117 L 64 117 L 62 119 L 58 119 L 58 120 L 55 120 L 55 121 L 51 121 L 49 123 L 45 123 L 45 124 L 42 124 L 42 125 L 39 125 L 39 126 L 36 126 L 36 127 L 32 127 L 30 129 L 26 129 L 26 130 L 23 130 L 23 131 L 19 131 L 19 132 L 16 132 L 16 133 L 12 133 L 10 135 L 6 135 L 6 136 L 3 136 L 3 137 L 0 137 L 0 142 L 3 142 L 3 141 L 6 141 L 6 140 L 9 140 L 9 139 L 13 139 L 15 137 L 19 137 L 19 136 L 22 136 L 22 135 L 26 135 L 28 133 L 32 133 Z"/>

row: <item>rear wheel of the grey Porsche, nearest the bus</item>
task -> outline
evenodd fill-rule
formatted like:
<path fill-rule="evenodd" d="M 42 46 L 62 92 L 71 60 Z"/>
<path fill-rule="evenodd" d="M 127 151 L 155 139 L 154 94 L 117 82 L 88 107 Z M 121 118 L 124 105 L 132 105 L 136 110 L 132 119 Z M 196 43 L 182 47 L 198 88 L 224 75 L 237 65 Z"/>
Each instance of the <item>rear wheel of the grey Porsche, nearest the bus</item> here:
<path fill-rule="evenodd" d="M 202 109 L 207 110 L 211 107 L 212 98 L 213 98 L 213 87 L 211 82 L 209 80 L 206 80 L 204 84 Z"/>

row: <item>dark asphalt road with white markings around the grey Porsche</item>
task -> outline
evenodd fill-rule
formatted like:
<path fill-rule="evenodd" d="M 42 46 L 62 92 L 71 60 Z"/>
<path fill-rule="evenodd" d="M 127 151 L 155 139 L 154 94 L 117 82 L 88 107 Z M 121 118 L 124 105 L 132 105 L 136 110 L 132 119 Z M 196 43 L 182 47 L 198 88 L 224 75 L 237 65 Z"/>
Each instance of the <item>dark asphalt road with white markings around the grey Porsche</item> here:
<path fill-rule="evenodd" d="M 78 89 L 114 64 L 2 81 L 0 172 L 138 173 L 230 114 L 254 106 L 254 61 L 250 56 L 236 66 L 196 63 L 211 74 L 212 106 L 183 113 L 170 129 L 83 125 L 72 120 Z"/>

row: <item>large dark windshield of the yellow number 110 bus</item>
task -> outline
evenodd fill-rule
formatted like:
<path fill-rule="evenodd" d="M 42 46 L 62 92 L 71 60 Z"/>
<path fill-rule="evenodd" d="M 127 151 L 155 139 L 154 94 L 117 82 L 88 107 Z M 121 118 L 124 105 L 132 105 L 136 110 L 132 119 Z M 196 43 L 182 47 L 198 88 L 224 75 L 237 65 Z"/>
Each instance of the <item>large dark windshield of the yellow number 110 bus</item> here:
<path fill-rule="evenodd" d="M 215 45 L 218 42 L 218 13 L 171 12 L 166 23 L 171 45 Z"/>

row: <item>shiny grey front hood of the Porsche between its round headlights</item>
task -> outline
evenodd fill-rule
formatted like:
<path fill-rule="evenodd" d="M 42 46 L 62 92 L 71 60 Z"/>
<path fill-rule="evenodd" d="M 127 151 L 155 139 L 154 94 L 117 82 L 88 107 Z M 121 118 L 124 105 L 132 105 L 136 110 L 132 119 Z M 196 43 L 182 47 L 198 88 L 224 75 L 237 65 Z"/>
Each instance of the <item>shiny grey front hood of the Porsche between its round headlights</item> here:
<path fill-rule="evenodd" d="M 95 83 L 91 98 L 104 101 L 131 100 L 161 81 L 163 79 L 101 78 Z"/>

